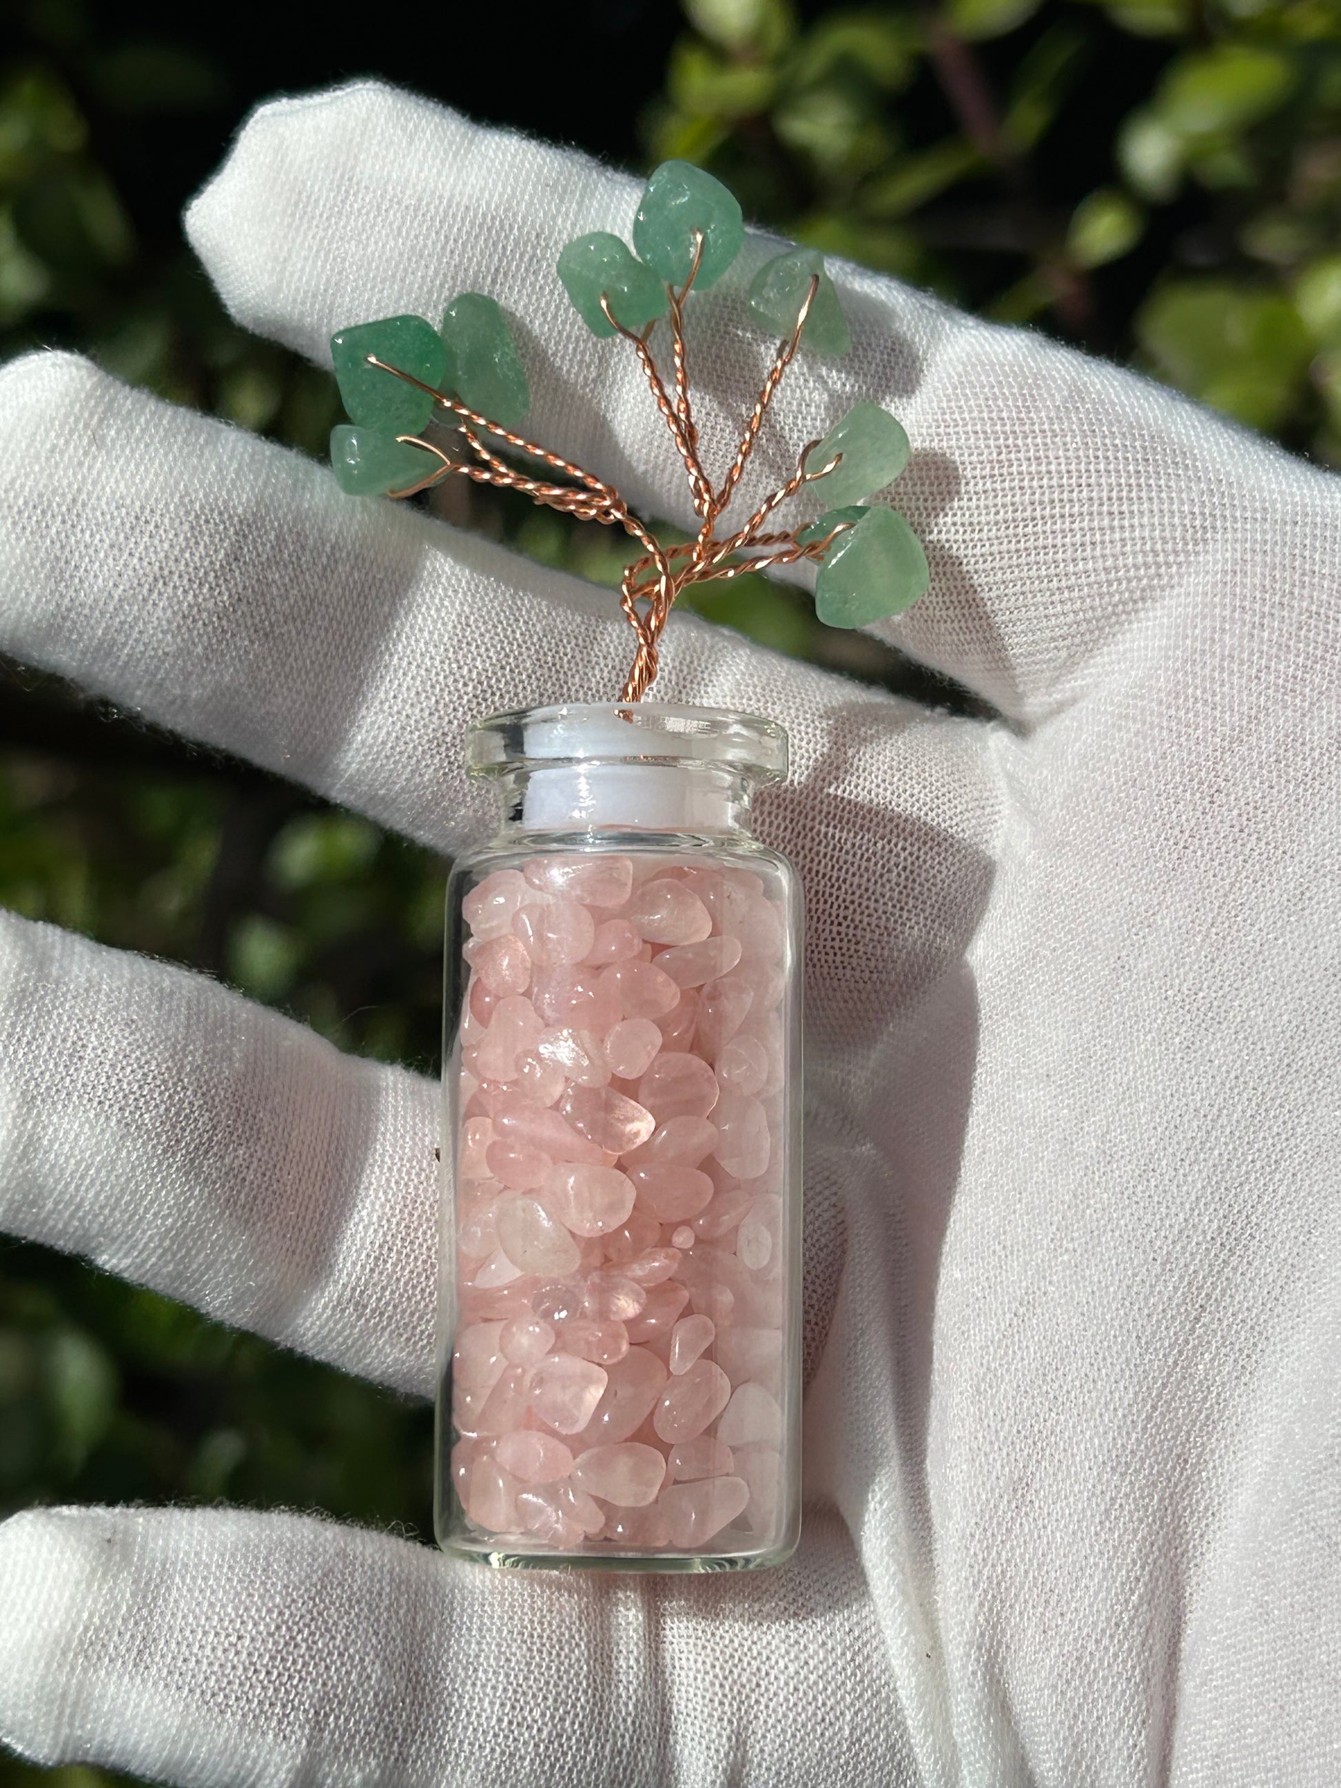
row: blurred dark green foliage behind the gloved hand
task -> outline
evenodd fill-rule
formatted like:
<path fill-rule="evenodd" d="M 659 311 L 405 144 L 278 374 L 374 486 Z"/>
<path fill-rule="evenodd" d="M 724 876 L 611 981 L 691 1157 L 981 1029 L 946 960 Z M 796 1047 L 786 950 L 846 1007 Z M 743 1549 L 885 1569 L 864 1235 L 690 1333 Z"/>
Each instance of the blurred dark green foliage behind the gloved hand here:
<path fill-rule="evenodd" d="M 576 0 L 508 54 L 452 9 L 370 43 L 227 13 L 0 7 L 0 356 L 72 347 L 320 454 L 329 377 L 222 315 L 179 229 L 265 95 L 383 73 L 1134 363 L 1341 465 L 1341 0 Z M 515 29 L 520 21 L 522 29 Z M 578 105 L 619 91 L 620 105 Z M 431 72 L 438 70 L 440 77 Z M 561 73 L 565 70 L 560 70 Z M 460 483 L 452 520 L 617 581 L 599 529 Z M 758 579 L 704 611 L 923 699 L 953 688 Z M 0 903 L 218 974 L 433 1071 L 443 865 L 302 790 L 0 663 Z M 0 1513 L 240 1498 L 429 1531 L 427 1413 L 27 1244 L 0 1246 Z M 0 1788 L 36 1779 L 0 1759 Z M 107 1777 L 55 1772 L 64 1788 Z"/>

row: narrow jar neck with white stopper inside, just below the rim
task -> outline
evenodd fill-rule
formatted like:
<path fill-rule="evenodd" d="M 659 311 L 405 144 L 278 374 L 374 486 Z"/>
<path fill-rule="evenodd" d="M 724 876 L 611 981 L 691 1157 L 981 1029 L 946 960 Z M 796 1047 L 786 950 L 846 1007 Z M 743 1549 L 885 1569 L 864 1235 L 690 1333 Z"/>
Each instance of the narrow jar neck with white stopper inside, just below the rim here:
<path fill-rule="evenodd" d="M 504 831 L 747 833 L 755 780 L 717 763 L 581 762 L 499 778 Z"/>

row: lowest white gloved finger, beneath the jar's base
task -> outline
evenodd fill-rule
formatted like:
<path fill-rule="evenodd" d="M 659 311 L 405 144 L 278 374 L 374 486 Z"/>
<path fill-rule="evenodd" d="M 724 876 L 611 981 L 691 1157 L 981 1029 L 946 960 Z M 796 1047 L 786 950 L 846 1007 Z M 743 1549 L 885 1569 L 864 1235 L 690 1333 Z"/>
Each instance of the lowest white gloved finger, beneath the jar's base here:
<path fill-rule="evenodd" d="M 928 1779 L 819 1511 L 780 1570 L 681 1579 L 488 1572 L 291 1514 L 32 1511 L 0 1527 L 0 1736 L 41 1763 L 181 1788 Z"/>

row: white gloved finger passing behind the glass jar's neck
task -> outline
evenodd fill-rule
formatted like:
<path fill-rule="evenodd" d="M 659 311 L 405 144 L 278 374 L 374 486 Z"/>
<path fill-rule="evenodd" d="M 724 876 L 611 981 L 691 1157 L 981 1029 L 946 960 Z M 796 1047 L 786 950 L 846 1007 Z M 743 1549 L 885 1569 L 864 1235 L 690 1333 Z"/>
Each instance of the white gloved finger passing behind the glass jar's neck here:
<path fill-rule="evenodd" d="M 477 830 L 472 719 L 622 683 L 610 592 L 343 497 L 299 454 L 84 361 L 7 367 L 0 442 L 2 649 L 433 846 Z M 989 731 L 692 617 L 672 617 L 663 660 L 665 699 L 789 730 L 792 776 L 760 824 L 815 915 L 815 1035 L 848 1035 L 851 1010 L 883 1017 L 976 923 L 998 826 Z"/>

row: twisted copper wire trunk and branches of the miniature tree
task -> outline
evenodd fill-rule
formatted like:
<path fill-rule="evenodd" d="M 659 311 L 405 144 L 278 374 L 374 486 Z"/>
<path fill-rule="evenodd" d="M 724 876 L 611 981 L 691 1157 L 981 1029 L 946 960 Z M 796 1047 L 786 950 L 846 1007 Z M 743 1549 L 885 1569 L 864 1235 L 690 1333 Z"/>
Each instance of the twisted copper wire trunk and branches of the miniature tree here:
<path fill-rule="evenodd" d="M 620 526 L 642 545 L 642 556 L 624 567 L 619 592 L 620 608 L 624 610 L 637 638 L 633 665 L 628 679 L 624 681 L 620 701 L 642 701 L 647 694 L 656 678 L 660 638 L 667 620 L 670 619 L 670 610 L 676 597 L 692 583 L 728 581 L 731 578 L 740 578 L 746 572 L 767 570 L 774 565 L 796 565 L 801 560 L 819 560 L 833 540 L 837 540 L 837 536 L 849 526 L 848 522 L 842 522 L 822 540 L 810 540 L 806 544 L 799 544 L 796 540 L 796 531 L 769 535 L 760 533 L 774 510 L 787 502 L 789 497 L 794 497 L 805 485 L 814 483 L 817 477 L 824 477 L 842 460 L 842 454 L 835 454 L 817 472 L 808 472 L 806 460 L 819 443 L 806 442 L 801 449 L 796 472 L 792 472 L 792 476 L 780 485 L 778 490 L 760 502 L 755 513 L 746 520 L 744 527 L 738 527 L 724 540 L 717 540 L 717 519 L 730 506 L 731 497 L 740 485 L 755 451 L 755 443 L 760 438 L 769 404 L 781 384 L 783 374 L 796 358 L 796 350 L 801 343 L 801 331 L 806 325 L 810 308 L 815 302 L 815 293 L 819 291 L 819 275 L 814 274 L 810 279 L 810 288 L 805 302 L 801 304 L 796 327 L 790 336 L 778 343 L 778 352 L 772 358 L 772 365 L 769 367 L 758 401 L 755 402 L 749 422 L 746 424 L 746 433 L 737 447 L 735 460 L 731 461 L 721 488 L 713 490 L 712 481 L 703 470 L 703 463 L 699 460 L 699 431 L 694 426 L 694 413 L 688 399 L 688 358 L 685 350 L 685 299 L 688 297 L 694 281 L 699 277 L 701 265 L 703 234 L 696 231 L 694 259 L 685 284 L 679 286 L 679 290 L 670 284 L 665 288 L 674 397 L 667 392 L 662 374 L 658 372 L 656 359 L 653 358 L 653 350 L 647 345 L 654 324 L 649 324 L 642 334 L 637 334 L 633 329 L 626 329 L 624 324 L 620 324 L 613 315 L 608 293 L 601 293 L 601 311 L 606 322 L 611 329 L 624 336 L 626 342 L 633 343 L 647 379 L 647 386 L 653 393 L 653 401 L 656 402 L 662 420 L 665 422 L 679 458 L 685 463 L 690 495 L 694 499 L 694 511 L 701 517 L 697 536 L 694 540 L 681 540 L 672 547 L 662 547 L 656 536 L 649 533 L 637 515 L 629 511 L 620 493 L 592 472 L 583 470 L 583 467 L 574 465 L 561 454 L 549 452 L 545 447 L 527 440 L 524 434 L 515 434 L 511 429 L 504 429 L 499 422 L 479 415 L 479 411 L 470 409 L 456 397 L 447 397 L 431 384 L 424 384 L 424 381 L 417 379 L 413 374 L 402 372 L 399 367 L 392 367 L 384 359 L 377 359 L 375 354 L 368 354 L 370 367 L 379 367 L 383 372 L 390 372 L 406 384 L 413 384 L 415 390 L 429 395 L 438 408 L 454 417 L 454 433 L 461 436 L 465 445 L 474 454 L 474 460 L 452 460 L 442 451 L 442 447 L 434 442 L 424 440 L 420 434 L 399 434 L 397 440 L 408 442 L 415 447 L 424 447 L 440 463 L 433 468 L 433 472 L 429 472 L 427 477 L 418 479 L 415 485 L 408 485 L 404 490 L 392 490 L 388 495 L 413 497 L 415 492 L 429 490 L 445 477 L 461 476 L 481 485 L 493 485 L 501 490 L 517 490 L 522 495 L 531 497 L 533 502 L 561 510 L 579 520 L 601 522 L 606 527 Z M 576 483 L 558 485 L 545 479 L 527 477 L 524 472 L 519 472 L 515 467 L 508 465 L 506 460 L 501 460 L 495 452 L 492 452 L 479 438 L 481 434 L 497 436 L 515 452 L 526 454 L 531 460 L 540 460 L 542 465 L 549 467 L 552 472 L 560 472 Z M 747 552 L 749 549 L 763 551 L 755 551 L 755 556 L 751 558 L 738 558 L 738 554 Z M 731 560 L 735 560 L 735 563 L 728 563 Z M 676 561 L 683 561 L 679 569 L 676 569 Z"/>

